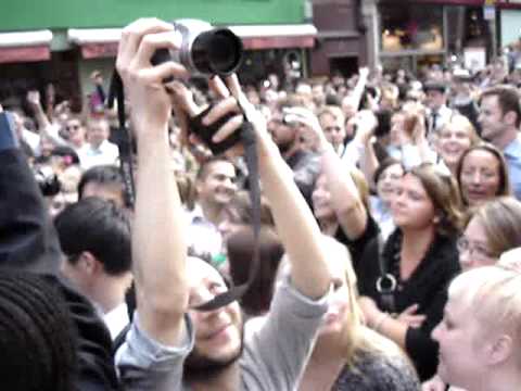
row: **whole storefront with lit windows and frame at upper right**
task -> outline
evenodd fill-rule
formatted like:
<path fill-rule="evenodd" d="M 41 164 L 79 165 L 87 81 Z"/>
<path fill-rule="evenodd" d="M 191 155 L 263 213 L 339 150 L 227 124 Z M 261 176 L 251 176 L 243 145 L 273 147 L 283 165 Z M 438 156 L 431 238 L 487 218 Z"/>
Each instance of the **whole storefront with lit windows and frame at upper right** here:
<path fill-rule="evenodd" d="M 473 60 L 484 66 L 493 54 L 494 34 L 483 0 L 382 0 L 379 56 L 386 70 L 417 73 L 423 66 Z"/>

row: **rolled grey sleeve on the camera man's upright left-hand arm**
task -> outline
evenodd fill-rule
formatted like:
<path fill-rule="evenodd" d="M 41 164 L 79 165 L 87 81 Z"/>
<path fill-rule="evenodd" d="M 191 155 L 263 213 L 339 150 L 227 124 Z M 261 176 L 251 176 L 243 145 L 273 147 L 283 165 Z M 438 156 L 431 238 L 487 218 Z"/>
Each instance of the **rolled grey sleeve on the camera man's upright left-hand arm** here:
<path fill-rule="evenodd" d="M 149 337 L 135 315 L 125 343 L 116 352 L 116 365 L 126 391 L 182 390 L 182 365 L 193 349 L 194 330 L 188 315 L 179 346 L 166 346 Z"/>

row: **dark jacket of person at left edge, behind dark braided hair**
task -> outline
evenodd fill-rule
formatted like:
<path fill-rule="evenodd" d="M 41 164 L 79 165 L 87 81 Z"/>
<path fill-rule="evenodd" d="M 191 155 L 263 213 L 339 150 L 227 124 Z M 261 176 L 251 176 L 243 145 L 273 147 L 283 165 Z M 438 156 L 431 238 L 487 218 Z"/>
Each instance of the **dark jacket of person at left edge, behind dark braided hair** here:
<path fill-rule="evenodd" d="M 78 329 L 77 390 L 117 390 L 109 330 L 91 303 L 60 276 L 61 256 L 25 156 L 15 148 L 0 149 L 0 267 L 40 274 L 63 293 Z"/>

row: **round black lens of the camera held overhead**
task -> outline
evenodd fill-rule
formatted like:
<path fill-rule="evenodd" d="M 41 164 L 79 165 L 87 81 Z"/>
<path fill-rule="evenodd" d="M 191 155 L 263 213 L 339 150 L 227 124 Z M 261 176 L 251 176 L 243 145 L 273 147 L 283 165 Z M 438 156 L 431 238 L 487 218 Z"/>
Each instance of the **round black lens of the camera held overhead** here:
<path fill-rule="evenodd" d="M 191 54 L 199 71 L 226 76 L 239 67 L 242 50 L 242 41 L 231 30 L 221 28 L 199 35 Z"/>

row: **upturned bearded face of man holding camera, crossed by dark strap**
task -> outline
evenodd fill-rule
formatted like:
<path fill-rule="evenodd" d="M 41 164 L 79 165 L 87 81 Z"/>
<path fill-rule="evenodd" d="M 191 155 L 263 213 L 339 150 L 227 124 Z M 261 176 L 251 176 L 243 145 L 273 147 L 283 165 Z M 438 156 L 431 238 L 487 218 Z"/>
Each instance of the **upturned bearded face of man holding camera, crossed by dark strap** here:
<path fill-rule="evenodd" d="M 189 370 L 220 369 L 236 362 L 243 348 L 243 323 L 239 304 L 201 312 L 196 305 L 227 290 L 219 273 L 199 258 L 188 260 L 190 318 L 195 329 L 194 349 L 187 358 Z"/>

